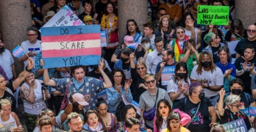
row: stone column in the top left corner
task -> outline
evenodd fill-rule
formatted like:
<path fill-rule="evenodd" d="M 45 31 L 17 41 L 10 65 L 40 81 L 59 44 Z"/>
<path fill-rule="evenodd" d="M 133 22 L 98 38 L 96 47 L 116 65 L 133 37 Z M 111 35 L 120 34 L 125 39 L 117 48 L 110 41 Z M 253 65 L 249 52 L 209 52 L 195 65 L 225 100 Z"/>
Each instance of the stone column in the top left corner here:
<path fill-rule="evenodd" d="M 5 48 L 12 51 L 18 44 L 27 40 L 27 27 L 31 26 L 29 0 L 0 1 L 0 26 Z M 23 63 L 15 58 L 16 73 L 23 70 Z"/>

